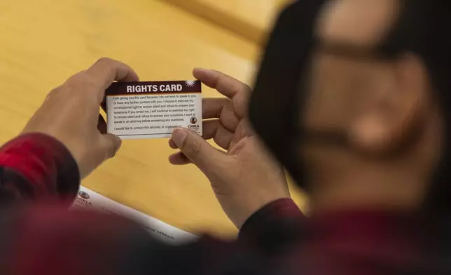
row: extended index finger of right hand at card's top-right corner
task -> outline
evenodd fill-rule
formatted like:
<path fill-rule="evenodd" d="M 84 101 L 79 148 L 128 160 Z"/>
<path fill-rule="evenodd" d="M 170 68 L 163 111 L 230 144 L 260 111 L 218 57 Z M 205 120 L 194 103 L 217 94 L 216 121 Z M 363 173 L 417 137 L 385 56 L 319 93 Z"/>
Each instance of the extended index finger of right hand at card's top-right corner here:
<path fill-rule="evenodd" d="M 193 76 L 210 88 L 218 90 L 219 93 L 228 98 L 233 98 L 237 93 L 249 93 L 251 88 L 232 76 L 211 69 L 195 68 Z"/>

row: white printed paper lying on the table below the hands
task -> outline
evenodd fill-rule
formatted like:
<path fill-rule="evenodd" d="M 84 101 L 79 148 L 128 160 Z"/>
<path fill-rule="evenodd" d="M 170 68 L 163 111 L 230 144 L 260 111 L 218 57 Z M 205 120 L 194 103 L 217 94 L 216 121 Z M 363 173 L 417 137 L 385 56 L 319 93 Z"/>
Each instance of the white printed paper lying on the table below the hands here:
<path fill-rule="evenodd" d="M 126 217 L 129 220 L 141 224 L 151 236 L 166 243 L 179 244 L 197 239 L 197 236 L 193 234 L 117 203 L 83 186 L 80 187 L 72 209 L 92 209 Z"/>

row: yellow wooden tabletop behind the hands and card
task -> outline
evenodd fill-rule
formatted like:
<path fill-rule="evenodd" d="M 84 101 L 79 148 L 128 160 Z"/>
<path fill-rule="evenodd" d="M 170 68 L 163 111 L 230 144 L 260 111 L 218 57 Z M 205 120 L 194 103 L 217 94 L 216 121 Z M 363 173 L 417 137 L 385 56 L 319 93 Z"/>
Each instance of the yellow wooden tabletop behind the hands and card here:
<path fill-rule="evenodd" d="M 20 133 L 47 93 L 101 57 L 142 81 L 193 79 L 206 67 L 253 84 L 289 0 L 0 1 L 0 142 Z M 204 88 L 204 97 L 218 96 Z M 170 166 L 167 140 L 127 140 L 83 185 L 189 232 L 234 236 L 206 177 Z M 301 208 L 305 199 L 292 189 Z"/>

